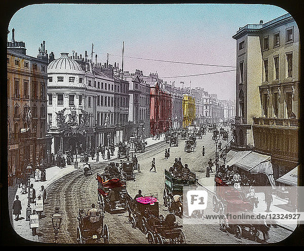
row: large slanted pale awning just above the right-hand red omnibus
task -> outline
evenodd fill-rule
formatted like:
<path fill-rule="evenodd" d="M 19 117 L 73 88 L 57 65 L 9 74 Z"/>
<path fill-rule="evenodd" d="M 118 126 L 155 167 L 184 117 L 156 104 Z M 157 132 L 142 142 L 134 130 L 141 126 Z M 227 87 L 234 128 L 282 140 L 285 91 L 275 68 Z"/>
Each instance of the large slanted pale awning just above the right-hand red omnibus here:
<path fill-rule="evenodd" d="M 250 173 L 252 173 L 251 172 L 252 169 L 256 169 L 257 171 L 255 173 L 260 174 L 260 173 L 264 173 L 263 169 L 268 167 L 268 165 L 260 166 L 260 164 L 262 162 L 269 161 L 270 159 L 271 159 L 271 156 L 269 156 L 269 155 L 263 155 L 263 154 L 251 151 L 249 154 L 247 154 L 243 158 L 239 159 L 234 165 L 247 172 L 250 171 Z M 271 173 L 271 174 L 273 174 L 273 173 Z"/>

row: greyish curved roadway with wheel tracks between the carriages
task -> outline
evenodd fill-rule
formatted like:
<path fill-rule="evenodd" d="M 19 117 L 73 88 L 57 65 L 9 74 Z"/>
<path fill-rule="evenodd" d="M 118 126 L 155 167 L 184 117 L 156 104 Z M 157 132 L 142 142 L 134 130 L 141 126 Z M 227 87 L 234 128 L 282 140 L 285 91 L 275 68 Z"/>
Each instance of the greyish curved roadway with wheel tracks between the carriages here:
<path fill-rule="evenodd" d="M 212 141 L 212 134 L 207 133 L 202 140 L 197 140 L 195 152 L 184 152 L 184 140 L 179 140 L 178 147 L 170 147 L 170 158 L 164 158 L 165 148 L 169 144 L 165 142 L 152 145 L 146 148 L 144 153 L 136 153 L 140 163 L 140 173 L 136 173 L 136 180 L 127 182 L 127 190 L 131 196 L 135 196 L 141 189 L 143 194 L 158 193 L 160 200 L 160 214 L 166 216 L 169 212 L 163 206 L 164 190 L 164 169 L 169 169 L 175 157 L 181 157 L 182 163 L 188 163 L 189 168 L 196 172 L 198 178 L 205 175 L 205 166 L 210 157 L 214 156 L 215 144 Z M 202 146 L 205 146 L 205 157 L 201 155 Z M 223 143 L 224 145 L 224 143 Z M 151 160 L 156 158 L 157 173 L 149 172 Z M 117 162 L 118 160 L 116 160 Z M 102 173 L 105 164 L 92 163 L 94 171 L 92 175 L 84 177 L 82 170 L 74 171 L 48 187 L 48 203 L 45 204 L 44 214 L 50 216 L 54 212 L 54 207 L 59 206 L 63 217 L 62 227 L 58 234 L 59 243 L 77 243 L 76 233 L 78 224 L 79 208 L 87 211 L 92 203 L 97 204 L 97 181 L 96 172 Z M 203 168 L 204 167 L 204 168 Z M 213 177 L 213 176 L 211 176 Z M 211 178 L 210 178 L 211 179 Z M 208 192 L 209 193 L 209 192 Z M 212 194 L 209 193 L 208 203 L 211 204 Z M 208 209 L 205 211 L 208 213 Z M 209 212 L 211 213 L 211 211 Z M 42 241 L 53 242 L 54 233 L 52 222 L 49 219 L 42 219 L 40 228 L 44 229 Z M 182 219 L 177 217 L 182 224 Z M 202 219 L 199 219 L 202 221 Z M 128 221 L 128 213 L 109 214 L 105 213 L 104 223 L 109 228 L 110 243 L 148 243 L 145 235 L 139 229 L 133 229 Z M 200 223 L 200 222 L 199 222 Z M 221 232 L 218 225 L 183 225 L 187 243 L 202 244 L 245 244 L 254 242 L 250 236 L 237 239 L 232 233 Z M 272 228 L 269 242 L 278 242 L 291 234 L 291 231 L 279 228 Z"/>

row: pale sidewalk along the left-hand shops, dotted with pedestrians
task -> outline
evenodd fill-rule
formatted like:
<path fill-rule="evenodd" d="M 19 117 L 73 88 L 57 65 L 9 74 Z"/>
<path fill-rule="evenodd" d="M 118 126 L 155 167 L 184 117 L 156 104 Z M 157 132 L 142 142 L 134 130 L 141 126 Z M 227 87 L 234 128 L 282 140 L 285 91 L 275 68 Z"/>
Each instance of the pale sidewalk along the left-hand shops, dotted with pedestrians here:
<path fill-rule="evenodd" d="M 164 141 L 164 137 L 161 137 L 160 140 L 154 140 L 151 138 L 147 138 L 147 146 L 155 145 L 160 142 Z M 101 156 L 99 156 L 99 162 L 96 162 L 96 154 L 94 156 L 94 159 L 92 160 L 91 157 L 89 157 L 89 163 L 105 163 L 110 160 L 117 159 L 117 151 L 118 147 L 115 148 L 115 152 L 113 156 L 110 156 L 110 159 L 103 159 Z M 78 161 L 80 158 L 78 158 Z M 75 161 L 75 158 L 74 158 Z M 78 169 L 74 168 L 74 165 L 66 165 L 66 168 L 58 168 L 58 166 L 52 166 L 51 168 L 46 169 L 46 181 L 41 182 L 41 181 L 34 181 L 33 178 L 30 179 L 30 184 L 33 184 L 34 189 L 36 190 L 36 197 L 39 195 L 39 191 L 41 189 L 41 186 L 44 186 L 45 189 L 48 188 L 52 183 L 56 182 L 58 179 L 61 177 L 71 173 L 71 172 L 82 172 L 83 171 L 83 164 L 84 162 L 78 162 L 79 167 Z M 9 208 L 10 208 L 10 219 L 11 219 L 11 224 L 14 230 L 16 231 L 17 234 L 19 234 L 21 237 L 31 240 L 31 241 L 40 241 L 40 236 L 39 233 L 41 230 L 37 228 L 37 233 L 38 235 L 32 236 L 32 231 L 29 228 L 29 221 L 26 221 L 26 207 L 27 207 L 27 202 L 28 202 L 28 193 L 26 194 L 21 194 L 22 188 L 17 188 L 16 191 L 16 186 L 14 187 L 9 187 Z M 48 189 L 47 189 L 48 190 Z M 28 188 L 27 188 L 28 192 Z M 19 200 L 21 201 L 21 215 L 19 216 L 19 221 L 15 221 L 15 216 L 12 215 L 13 210 L 12 210 L 12 204 L 13 201 L 15 200 L 16 195 L 19 196 Z M 30 204 L 31 210 L 33 211 L 35 209 L 35 204 L 31 203 Z M 48 216 L 46 219 L 48 219 L 50 216 Z M 44 221 L 44 219 L 41 219 L 40 221 Z"/>

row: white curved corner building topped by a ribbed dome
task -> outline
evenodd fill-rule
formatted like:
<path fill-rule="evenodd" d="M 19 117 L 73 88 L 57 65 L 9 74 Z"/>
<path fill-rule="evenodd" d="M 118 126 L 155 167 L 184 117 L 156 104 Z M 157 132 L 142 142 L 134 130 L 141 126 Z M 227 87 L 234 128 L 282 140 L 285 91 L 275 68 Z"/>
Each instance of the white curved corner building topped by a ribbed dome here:
<path fill-rule="evenodd" d="M 92 62 L 77 54 L 61 53 L 49 63 L 48 133 L 53 136 L 53 153 L 80 154 L 123 140 L 114 108 L 117 85 L 114 77 L 94 70 Z"/>

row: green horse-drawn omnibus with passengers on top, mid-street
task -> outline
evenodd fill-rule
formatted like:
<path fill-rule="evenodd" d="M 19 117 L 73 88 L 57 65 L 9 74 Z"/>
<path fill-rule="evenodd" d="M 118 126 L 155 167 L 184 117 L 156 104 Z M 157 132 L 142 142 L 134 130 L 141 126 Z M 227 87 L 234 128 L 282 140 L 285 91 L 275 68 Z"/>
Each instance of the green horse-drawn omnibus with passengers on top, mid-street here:
<path fill-rule="evenodd" d="M 164 206 L 168 207 L 170 212 L 174 212 L 177 216 L 182 218 L 183 190 L 186 186 L 195 190 L 197 188 L 197 181 L 196 174 L 193 172 L 189 173 L 188 179 L 183 179 L 181 175 L 173 175 L 165 169 Z"/>

